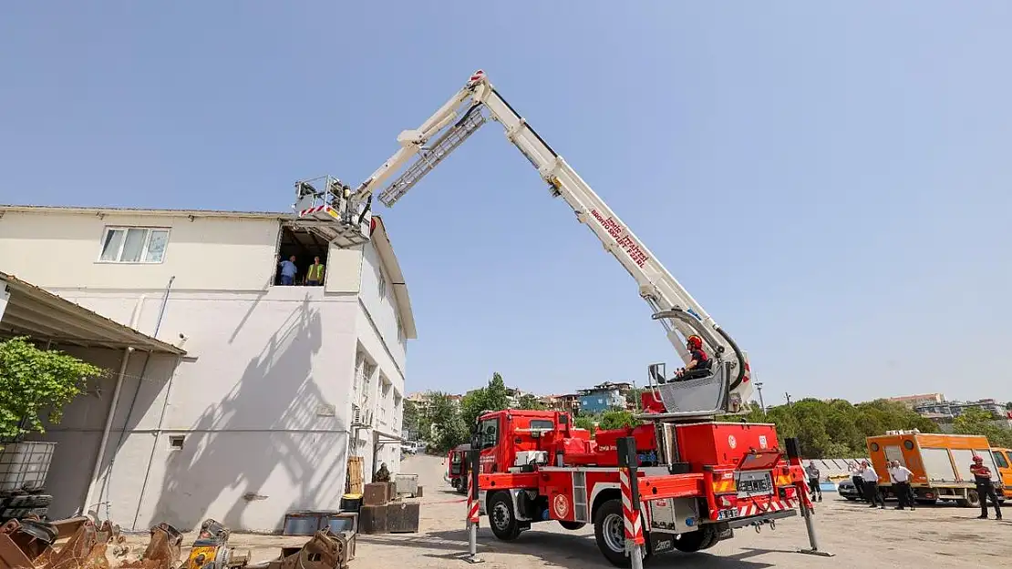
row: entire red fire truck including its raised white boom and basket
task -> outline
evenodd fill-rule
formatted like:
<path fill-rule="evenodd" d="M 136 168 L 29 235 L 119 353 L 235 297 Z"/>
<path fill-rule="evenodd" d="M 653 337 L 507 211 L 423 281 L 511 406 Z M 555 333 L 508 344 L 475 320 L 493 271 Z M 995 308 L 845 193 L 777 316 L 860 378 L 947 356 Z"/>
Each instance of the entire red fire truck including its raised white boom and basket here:
<path fill-rule="evenodd" d="M 751 398 L 753 383 L 745 352 L 506 102 L 484 72 L 475 72 L 418 128 L 401 132 L 397 152 L 358 187 L 352 189 L 331 177 L 297 182 L 293 209 L 300 224 L 321 232 L 334 247 L 355 248 L 368 242 L 374 195 L 393 206 L 490 122 L 503 126 L 506 139 L 537 170 L 549 194 L 561 198 L 629 273 L 637 293 L 684 362 L 684 368 L 671 377 L 666 377 L 663 364 L 650 366 L 650 390 L 643 401 L 646 422 L 630 430 L 591 438 L 574 429 L 565 412 L 482 414 L 473 441 L 480 450 L 478 497 L 495 535 L 512 540 L 533 523 L 550 519 L 568 529 L 593 524 L 601 552 L 612 563 L 625 565 L 631 561 L 626 551 L 641 551 L 641 537 L 649 537 L 643 544 L 645 555 L 671 549 L 699 551 L 730 538 L 735 528 L 758 529 L 793 515 L 797 507 L 811 507 L 796 449 L 786 460 L 777 448 L 773 425 L 720 420 L 741 413 Z M 602 135 L 593 120 L 588 124 L 588 136 Z M 476 191 L 480 188 L 479 183 Z M 487 213 L 491 212 L 482 212 Z M 436 218 L 444 220 L 444 212 Z M 659 219 L 676 227 L 682 222 L 683 232 L 700 233 L 695 219 L 690 221 L 682 213 L 665 212 Z M 445 225 L 436 222 L 433 227 Z M 705 242 L 704 236 L 699 239 Z M 707 250 L 706 255 L 729 263 L 735 259 L 734 251 Z M 634 460 L 639 465 L 619 467 L 617 443 L 621 441 L 628 451 L 628 437 L 636 441 Z M 623 461 L 630 460 L 628 453 L 622 456 Z M 623 512 L 626 494 L 621 488 L 629 488 L 634 469 L 642 500 Z M 477 515 L 474 505 L 469 504 L 468 511 L 472 521 Z M 628 530 L 627 525 L 636 526 L 641 518 L 643 527 Z M 628 539 L 630 531 L 635 535 Z"/>

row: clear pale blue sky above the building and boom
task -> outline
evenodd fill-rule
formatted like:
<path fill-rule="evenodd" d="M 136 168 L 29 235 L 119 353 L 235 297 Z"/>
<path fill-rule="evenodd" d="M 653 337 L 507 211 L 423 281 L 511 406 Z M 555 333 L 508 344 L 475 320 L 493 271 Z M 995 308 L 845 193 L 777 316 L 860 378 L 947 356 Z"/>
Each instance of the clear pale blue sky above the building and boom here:
<path fill-rule="evenodd" d="M 282 210 L 297 179 L 364 179 L 482 68 L 749 351 L 768 404 L 1012 399 L 1012 4 L 433 6 L 10 3 L 0 202 Z M 383 214 L 409 391 L 675 359 L 497 125 Z"/>

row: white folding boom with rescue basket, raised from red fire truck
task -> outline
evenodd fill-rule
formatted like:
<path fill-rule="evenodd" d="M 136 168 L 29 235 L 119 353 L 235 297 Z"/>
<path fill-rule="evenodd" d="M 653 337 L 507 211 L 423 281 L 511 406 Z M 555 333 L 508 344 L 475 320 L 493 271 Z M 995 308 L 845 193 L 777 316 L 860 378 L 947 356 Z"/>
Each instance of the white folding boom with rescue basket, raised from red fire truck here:
<path fill-rule="evenodd" d="M 693 335 L 702 339 L 713 358 L 707 376 L 668 381 L 664 364 L 649 366 L 649 385 L 664 403 L 662 414 L 674 419 L 745 410 L 752 395 L 747 355 L 481 70 L 418 128 L 401 132 L 397 137 L 401 148 L 358 187 L 352 189 L 330 176 L 300 181 L 292 207 L 304 222 L 324 227 L 336 247 L 362 245 L 369 240 L 373 195 L 393 206 L 490 120 L 502 124 L 506 139 L 537 169 L 552 196 L 569 204 L 577 220 L 636 279 L 640 296 L 684 362 L 690 361 L 686 339 Z"/>

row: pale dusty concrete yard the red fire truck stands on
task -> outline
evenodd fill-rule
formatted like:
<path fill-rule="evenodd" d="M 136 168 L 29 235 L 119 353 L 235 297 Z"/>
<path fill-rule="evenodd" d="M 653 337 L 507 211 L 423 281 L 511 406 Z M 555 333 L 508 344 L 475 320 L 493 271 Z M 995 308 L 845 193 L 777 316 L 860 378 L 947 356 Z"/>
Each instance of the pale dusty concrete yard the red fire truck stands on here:
<path fill-rule="evenodd" d="M 463 530 L 466 504 L 442 480 L 437 457 L 411 457 L 401 471 L 418 473 L 425 486 L 421 529 L 413 535 L 358 536 L 353 569 L 424 569 L 466 567 L 457 558 L 467 552 Z M 1012 504 L 1009 506 L 1012 515 Z M 1012 564 L 1012 521 L 976 519 L 980 510 L 939 505 L 915 511 L 870 509 L 827 493 L 817 504 L 820 547 L 836 554 L 823 558 L 795 553 L 808 547 L 800 517 L 784 519 L 775 532 L 738 530 L 735 538 L 705 553 L 658 556 L 650 567 L 753 569 L 763 567 L 1009 567 Z M 611 567 L 600 556 L 593 529 L 568 532 L 556 523 L 534 525 L 512 543 L 499 542 L 482 518 L 479 554 L 486 569 L 543 567 Z M 187 540 L 188 541 L 188 540 Z M 282 545 L 306 538 L 234 535 L 230 544 L 252 550 L 252 560 L 276 557 Z M 184 553 L 185 555 L 185 553 Z"/>

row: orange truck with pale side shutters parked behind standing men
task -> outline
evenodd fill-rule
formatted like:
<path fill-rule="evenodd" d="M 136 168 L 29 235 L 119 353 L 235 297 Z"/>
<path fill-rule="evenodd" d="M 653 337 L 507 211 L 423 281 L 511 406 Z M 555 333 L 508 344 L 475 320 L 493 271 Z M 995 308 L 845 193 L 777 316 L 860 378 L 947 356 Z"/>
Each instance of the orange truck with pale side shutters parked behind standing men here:
<path fill-rule="evenodd" d="M 914 473 L 911 488 L 918 503 L 954 500 L 964 507 L 980 507 L 981 498 L 969 472 L 975 455 L 991 468 L 995 488 L 1002 495 L 1001 472 L 986 437 L 890 431 L 868 437 L 867 446 L 878 486 L 886 495 L 893 494 L 887 461 L 897 460 Z"/>

